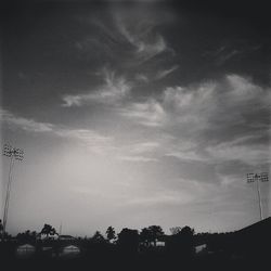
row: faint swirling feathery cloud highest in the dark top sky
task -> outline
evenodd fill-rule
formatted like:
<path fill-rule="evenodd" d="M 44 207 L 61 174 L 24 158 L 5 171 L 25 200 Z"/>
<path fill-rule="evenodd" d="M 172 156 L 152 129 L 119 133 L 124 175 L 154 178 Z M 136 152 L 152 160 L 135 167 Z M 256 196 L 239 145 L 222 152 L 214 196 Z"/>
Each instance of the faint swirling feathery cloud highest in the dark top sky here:
<path fill-rule="evenodd" d="M 166 18 L 157 16 L 155 12 L 150 11 L 146 15 L 136 4 L 133 10 L 109 9 L 107 15 L 109 16 L 103 18 L 94 14 L 91 18 L 78 18 L 91 31 L 91 35 L 86 33 L 85 37 L 74 42 L 79 55 L 96 61 L 106 60 L 116 66 L 129 68 L 142 65 L 163 53 L 175 52 L 158 29 L 158 25 Z"/>

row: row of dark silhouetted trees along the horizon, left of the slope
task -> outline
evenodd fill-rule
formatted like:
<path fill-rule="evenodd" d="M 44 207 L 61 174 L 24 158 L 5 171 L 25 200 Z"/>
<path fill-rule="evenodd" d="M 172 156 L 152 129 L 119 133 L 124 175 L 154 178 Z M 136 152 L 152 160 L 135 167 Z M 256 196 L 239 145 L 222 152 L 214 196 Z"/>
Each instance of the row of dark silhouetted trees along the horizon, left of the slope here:
<path fill-rule="evenodd" d="M 1 225 L 1 223 L 0 223 Z M 0 229 L 2 229 L 0 227 Z M 59 235 L 55 228 L 46 223 L 40 232 L 25 231 L 16 236 L 8 233 L 1 233 L 1 240 L 13 242 L 17 245 L 52 245 L 55 244 L 75 244 L 83 251 L 90 247 L 111 246 L 116 249 L 122 249 L 126 253 L 149 251 L 149 250 L 167 250 L 170 254 L 182 254 L 185 257 L 195 254 L 195 247 L 205 244 L 206 250 L 219 250 L 224 246 L 232 233 L 195 233 L 194 229 L 189 225 L 170 228 L 170 234 L 165 234 L 160 225 L 150 225 L 139 230 L 122 229 L 119 233 L 111 225 L 104 234 L 95 231 L 91 237 L 73 237 L 69 235 Z"/>

